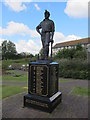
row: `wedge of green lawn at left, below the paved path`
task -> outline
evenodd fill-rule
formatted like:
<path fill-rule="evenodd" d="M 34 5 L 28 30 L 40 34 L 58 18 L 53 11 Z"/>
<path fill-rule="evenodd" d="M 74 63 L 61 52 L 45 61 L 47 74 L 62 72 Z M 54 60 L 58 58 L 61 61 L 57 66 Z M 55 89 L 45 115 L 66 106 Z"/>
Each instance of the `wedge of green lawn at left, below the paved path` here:
<path fill-rule="evenodd" d="M 27 90 L 26 87 L 22 86 L 8 86 L 8 85 L 3 85 L 2 86 L 2 98 L 10 97 L 12 95 L 25 92 Z"/>

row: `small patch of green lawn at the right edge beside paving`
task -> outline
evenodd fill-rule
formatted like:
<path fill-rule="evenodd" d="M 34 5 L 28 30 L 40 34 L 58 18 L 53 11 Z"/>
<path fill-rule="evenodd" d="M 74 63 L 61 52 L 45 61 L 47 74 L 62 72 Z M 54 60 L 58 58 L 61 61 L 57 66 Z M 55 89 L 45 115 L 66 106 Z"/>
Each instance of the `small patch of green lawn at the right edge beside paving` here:
<path fill-rule="evenodd" d="M 75 87 L 72 90 L 72 93 L 76 94 L 76 95 L 90 96 L 90 90 L 88 90 L 88 88 L 84 88 L 84 87 Z"/>

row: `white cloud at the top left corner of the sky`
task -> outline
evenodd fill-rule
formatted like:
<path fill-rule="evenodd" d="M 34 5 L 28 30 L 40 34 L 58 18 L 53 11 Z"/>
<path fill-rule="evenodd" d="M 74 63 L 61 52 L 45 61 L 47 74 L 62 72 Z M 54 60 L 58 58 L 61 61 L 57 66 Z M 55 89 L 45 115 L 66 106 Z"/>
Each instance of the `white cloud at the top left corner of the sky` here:
<path fill-rule="evenodd" d="M 26 10 L 25 2 L 31 2 L 31 0 L 4 0 L 4 4 L 15 12 Z"/>

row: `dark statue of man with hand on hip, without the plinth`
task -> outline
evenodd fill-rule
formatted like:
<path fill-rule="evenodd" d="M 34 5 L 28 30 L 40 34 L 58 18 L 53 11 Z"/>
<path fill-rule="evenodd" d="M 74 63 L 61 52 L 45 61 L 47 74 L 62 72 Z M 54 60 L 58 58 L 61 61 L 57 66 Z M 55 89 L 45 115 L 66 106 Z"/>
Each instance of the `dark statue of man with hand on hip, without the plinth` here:
<path fill-rule="evenodd" d="M 44 15 L 45 19 L 36 27 L 36 30 L 41 35 L 43 59 L 47 60 L 49 55 L 49 43 L 53 43 L 55 25 L 54 22 L 49 19 L 50 13 L 47 10 L 45 10 Z"/>

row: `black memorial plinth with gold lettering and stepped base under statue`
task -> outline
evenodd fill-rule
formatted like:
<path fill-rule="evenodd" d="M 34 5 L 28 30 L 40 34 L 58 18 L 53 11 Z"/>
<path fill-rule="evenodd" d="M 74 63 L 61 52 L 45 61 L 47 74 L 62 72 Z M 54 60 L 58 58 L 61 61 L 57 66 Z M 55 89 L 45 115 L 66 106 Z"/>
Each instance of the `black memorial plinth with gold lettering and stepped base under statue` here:
<path fill-rule="evenodd" d="M 58 91 L 58 67 L 56 62 L 38 61 L 29 63 L 28 94 L 24 96 L 24 106 L 31 106 L 47 112 L 61 102 Z"/>

